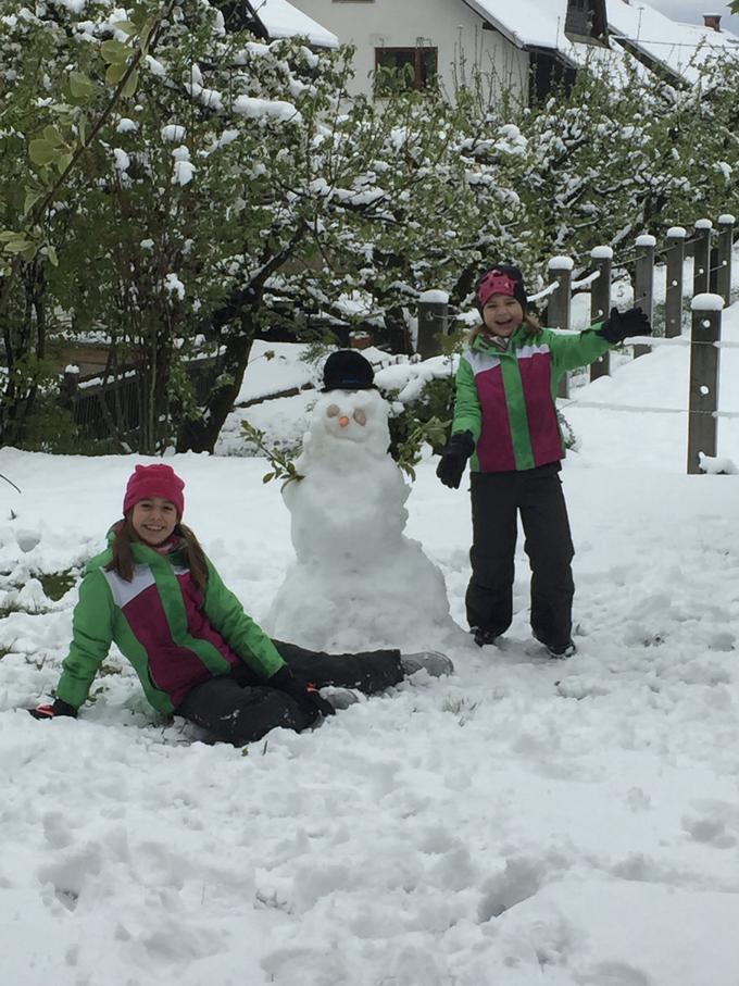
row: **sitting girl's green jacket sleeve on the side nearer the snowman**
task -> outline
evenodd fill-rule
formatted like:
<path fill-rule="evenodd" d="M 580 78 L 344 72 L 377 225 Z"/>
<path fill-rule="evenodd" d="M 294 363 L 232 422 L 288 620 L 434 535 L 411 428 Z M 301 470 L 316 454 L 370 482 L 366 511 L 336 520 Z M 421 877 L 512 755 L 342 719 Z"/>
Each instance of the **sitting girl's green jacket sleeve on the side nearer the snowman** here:
<path fill-rule="evenodd" d="M 208 563 L 208 586 L 203 611 L 228 646 L 264 678 L 272 677 L 284 666 L 279 651 L 251 616 L 243 611 L 238 598 Z"/>

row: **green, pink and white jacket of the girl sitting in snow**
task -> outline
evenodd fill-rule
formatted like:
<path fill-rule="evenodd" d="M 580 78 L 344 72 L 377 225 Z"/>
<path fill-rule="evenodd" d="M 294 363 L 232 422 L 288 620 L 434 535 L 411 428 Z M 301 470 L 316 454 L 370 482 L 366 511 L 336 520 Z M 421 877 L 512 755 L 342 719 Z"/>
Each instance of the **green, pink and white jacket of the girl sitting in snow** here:
<path fill-rule="evenodd" d="M 270 637 L 243 612 L 210 560 L 203 595 L 184 551 L 162 556 L 141 544 L 131 549 L 131 582 L 105 570 L 110 548 L 85 570 L 58 698 L 83 704 L 111 644 L 134 665 L 149 702 L 165 713 L 190 688 L 242 661 L 265 681 L 283 667 Z"/>

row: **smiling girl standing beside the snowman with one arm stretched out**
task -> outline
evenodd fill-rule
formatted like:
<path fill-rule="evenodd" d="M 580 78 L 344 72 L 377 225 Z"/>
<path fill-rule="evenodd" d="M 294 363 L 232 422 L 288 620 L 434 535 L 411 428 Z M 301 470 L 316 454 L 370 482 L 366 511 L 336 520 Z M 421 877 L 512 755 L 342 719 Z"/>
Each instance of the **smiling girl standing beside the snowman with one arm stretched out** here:
<path fill-rule="evenodd" d="M 565 452 L 558 383 L 566 371 L 652 329 L 638 308 L 614 308 L 606 321 L 578 335 L 541 328 L 526 313 L 524 278 L 511 264 L 487 271 L 476 303 L 483 323 L 460 360 L 452 434 L 437 467 L 444 486 L 456 489 L 471 460 L 467 621 L 479 647 L 511 625 L 521 512 L 531 567 L 531 631 L 552 657 L 569 657 L 575 552 L 559 477 Z"/>

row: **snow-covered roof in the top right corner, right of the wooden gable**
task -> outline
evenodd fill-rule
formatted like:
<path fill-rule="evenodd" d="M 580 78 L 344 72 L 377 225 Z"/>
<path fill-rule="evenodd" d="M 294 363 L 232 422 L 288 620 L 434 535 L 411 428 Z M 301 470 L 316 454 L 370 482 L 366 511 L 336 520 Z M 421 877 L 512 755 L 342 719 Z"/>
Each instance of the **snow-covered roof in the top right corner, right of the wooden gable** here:
<path fill-rule="evenodd" d="M 609 0 L 609 32 L 623 37 L 678 78 L 694 83 L 701 66 L 718 57 L 739 59 L 739 38 L 730 30 L 671 21 L 643 0 Z"/>

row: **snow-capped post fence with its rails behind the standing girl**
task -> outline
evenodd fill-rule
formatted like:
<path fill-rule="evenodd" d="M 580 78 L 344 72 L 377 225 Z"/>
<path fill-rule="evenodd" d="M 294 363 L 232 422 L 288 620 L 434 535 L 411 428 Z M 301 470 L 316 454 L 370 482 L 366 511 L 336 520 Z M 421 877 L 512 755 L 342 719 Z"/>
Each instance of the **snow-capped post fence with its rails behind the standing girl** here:
<path fill-rule="evenodd" d="M 728 213 L 718 217 L 714 229 L 711 220 L 699 220 L 693 235 L 682 226 L 667 230 L 665 245 L 657 254 L 656 239 L 642 234 L 635 242 L 628 258 L 634 264 L 634 304 L 647 312 L 652 322 L 654 337 L 631 340 L 635 358 L 650 352 L 660 345 L 690 346 L 690 386 L 687 409 L 636 408 L 600 404 L 592 401 L 572 401 L 578 407 L 603 408 L 622 411 L 660 411 L 688 414 L 688 463 L 690 474 L 702 473 L 705 458 L 716 457 L 716 424 L 718 417 L 739 417 L 739 413 L 718 410 L 719 350 L 739 348 L 737 342 L 722 341 L 722 310 L 730 303 L 731 252 L 736 220 Z M 689 338 L 680 337 L 682 330 L 684 270 L 686 247 L 692 247 L 692 322 Z M 657 255 L 665 262 L 665 303 L 661 324 L 654 324 L 654 270 Z M 569 257 L 553 257 L 548 270 L 550 284 L 529 296 L 529 301 L 546 301 L 543 323 L 562 332 L 572 329 L 573 292 L 590 289 L 590 322 L 606 317 L 611 311 L 614 258 L 611 247 L 596 247 L 591 253 L 592 270 L 578 280 L 573 279 L 574 262 Z M 622 258 L 619 266 L 625 266 Z M 449 314 L 447 296 L 440 291 L 425 291 L 418 302 L 417 351 L 424 359 L 439 352 L 438 339 L 447 334 L 453 323 Z M 611 373 L 610 353 L 596 360 L 589 367 L 590 380 Z M 569 400 L 569 375 L 560 382 L 560 398 Z"/>

